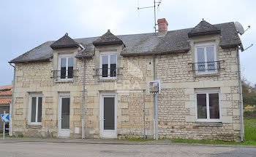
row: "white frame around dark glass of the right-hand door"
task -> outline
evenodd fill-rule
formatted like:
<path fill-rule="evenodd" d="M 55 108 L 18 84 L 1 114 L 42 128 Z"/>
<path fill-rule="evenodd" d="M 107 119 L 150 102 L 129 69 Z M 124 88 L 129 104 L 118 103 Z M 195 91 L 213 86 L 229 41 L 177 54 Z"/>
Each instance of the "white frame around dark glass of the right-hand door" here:
<path fill-rule="evenodd" d="M 115 98 L 115 129 L 114 130 L 104 130 L 104 97 L 114 97 Z M 116 138 L 117 137 L 117 100 L 116 92 L 100 92 L 99 98 L 99 137 L 101 138 Z"/>

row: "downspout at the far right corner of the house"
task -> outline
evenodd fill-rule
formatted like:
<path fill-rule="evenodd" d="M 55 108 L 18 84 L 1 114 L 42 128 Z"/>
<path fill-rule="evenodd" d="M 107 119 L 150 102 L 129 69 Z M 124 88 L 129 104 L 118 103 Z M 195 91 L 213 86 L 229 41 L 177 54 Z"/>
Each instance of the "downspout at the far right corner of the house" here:
<path fill-rule="evenodd" d="M 243 97 L 242 97 L 242 86 L 241 86 L 241 69 L 240 69 L 240 57 L 239 49 L 236 53 L 237 57 L 237 68 L 238 68 L 238 90 L 239 90 L 239 108 L 240 108 L 240 126 L 241 126 L 241 142 L 244 141 L 244 125 L 243 125 Z"/>

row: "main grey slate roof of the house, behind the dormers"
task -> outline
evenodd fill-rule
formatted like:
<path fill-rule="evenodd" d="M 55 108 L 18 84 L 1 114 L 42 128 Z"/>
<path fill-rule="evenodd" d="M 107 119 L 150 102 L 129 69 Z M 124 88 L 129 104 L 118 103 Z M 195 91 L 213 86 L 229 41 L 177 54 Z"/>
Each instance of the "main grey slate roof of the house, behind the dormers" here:
<path fill-rule="evenodd" d="M 234 23 L 222 23 L 214 25 L 220 30 L 220 46 L 236 47 L 241 44 Z M 193 28 L 187 28 L 176 31 L 168 31 L 165 37 L 157 37 L 155 33 L 142 33 L 132 35 L 116 36 L 123 41 L 125 48 L 121 55 L 148 55 L 156 53 L 158 55 L 169 52 L 185 52 L 190 49 L 189 36 Z M 82 44 L 85 49 L 76 57 L 91 57 L 94 55 L 94 41 L 99 37 L 74 39 L 75 42 Z M 11 60 L 10 63 L 22 63 L 37 60 L 49 60 L 53 55 L 53 49 L 50 44 L 54 41 L 47 41 L 44 44 L 31 49 L 20 57 Z"/>

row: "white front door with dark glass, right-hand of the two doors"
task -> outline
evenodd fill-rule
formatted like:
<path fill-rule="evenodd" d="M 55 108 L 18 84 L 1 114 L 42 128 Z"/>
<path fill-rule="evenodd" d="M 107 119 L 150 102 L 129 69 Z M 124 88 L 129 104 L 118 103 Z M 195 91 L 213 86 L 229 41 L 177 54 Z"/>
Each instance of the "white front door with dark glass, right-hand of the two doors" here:
<path fill-rule="evenodd" d="M 100 137 L 116 138 L 116 96 L 102 94 Z"/>

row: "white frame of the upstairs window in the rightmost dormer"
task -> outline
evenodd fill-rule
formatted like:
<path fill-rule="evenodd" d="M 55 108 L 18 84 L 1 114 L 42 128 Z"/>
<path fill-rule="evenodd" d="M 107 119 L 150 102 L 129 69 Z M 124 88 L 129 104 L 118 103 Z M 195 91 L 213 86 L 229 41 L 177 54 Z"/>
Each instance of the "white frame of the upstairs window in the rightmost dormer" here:
<path fill-rule="evenodd" d="M 218 70 L 215 71 L 208 71 L 208 65 L 207 65 L 207 54 L 206 54 L 206 47 L 214 47 L 214 62 L 217 61 L 217 49 L 216 49 L 216 43 L 214 41 L 211 42 L 203 42 L 203 43 L 197 43 L 195 44 L 195 74 L 196 75 L 206 75 L 206 74 L 215 74 L 218 73 Z M 197 71 L 197 48 L 203 48 L 204 49 L 204 57 L 205 57 L 205 71 Z M 215 65 L 215 69 L 217 69 L 217 65 Z"/>

